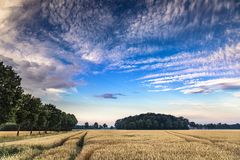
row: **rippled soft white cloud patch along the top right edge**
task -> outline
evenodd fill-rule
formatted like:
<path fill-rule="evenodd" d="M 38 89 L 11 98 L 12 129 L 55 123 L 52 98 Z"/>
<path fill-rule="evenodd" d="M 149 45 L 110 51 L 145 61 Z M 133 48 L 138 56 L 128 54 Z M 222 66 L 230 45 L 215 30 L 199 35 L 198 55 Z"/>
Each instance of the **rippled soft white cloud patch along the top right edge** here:
<path fill-rule="evenodd" d="M 232 1 L 218 3 L 194 0 L 189 3 L 186 0 L 176 0 L 146 3 L 147 9 L 141 12 L 128 28 L 127 36 L 130 39 L 165 39 L 200 25 L 211 27 L 218 23 L 228 23 L 227 17 L 219 15 L 224 10 L 232 14 L 231 21 L 239 21 L 239 15 L 233 12 L 236 4 Z"/>

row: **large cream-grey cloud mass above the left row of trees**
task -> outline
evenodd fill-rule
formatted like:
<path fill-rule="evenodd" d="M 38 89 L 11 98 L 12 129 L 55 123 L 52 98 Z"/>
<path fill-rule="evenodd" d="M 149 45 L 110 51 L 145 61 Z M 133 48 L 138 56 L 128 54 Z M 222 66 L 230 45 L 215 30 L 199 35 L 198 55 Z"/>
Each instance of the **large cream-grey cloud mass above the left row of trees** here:
<path fill-rule="evenodd" d="M 0 5 L 0 60 L 13 68 L 22 78 L 22 86 L 26 92 L 34 96 L 46 94 L 60 94 L 53 92 L 72 88 L 77 83 L 72 76 L 81 72 L 80 65 L 64 64 L 57 57 L 65 54 L 56 45 L 48 41 L 40 41 L 27 37 L 27 40 L 18 39 L 22 30 L 18 30 L 17 23 L 31 16 L 26 12 L 11 19 L 12 13 L 20 9 L 24 1 L 2 2 Z M 70 56 L 69 56 L 70 57 Z M 48 88 L 51 88 L 48 90 Z"/>

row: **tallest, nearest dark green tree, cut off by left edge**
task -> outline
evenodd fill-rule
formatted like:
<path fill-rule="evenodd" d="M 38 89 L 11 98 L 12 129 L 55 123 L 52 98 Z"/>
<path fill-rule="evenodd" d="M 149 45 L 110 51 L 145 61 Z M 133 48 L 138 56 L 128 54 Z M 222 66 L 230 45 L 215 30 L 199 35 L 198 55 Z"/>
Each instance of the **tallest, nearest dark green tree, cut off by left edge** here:
<path fill-rule="evenodd" d="M 21 78 L 10 66 L 0 62 L 0 124 L 13 121 L 23 93 Z"/>

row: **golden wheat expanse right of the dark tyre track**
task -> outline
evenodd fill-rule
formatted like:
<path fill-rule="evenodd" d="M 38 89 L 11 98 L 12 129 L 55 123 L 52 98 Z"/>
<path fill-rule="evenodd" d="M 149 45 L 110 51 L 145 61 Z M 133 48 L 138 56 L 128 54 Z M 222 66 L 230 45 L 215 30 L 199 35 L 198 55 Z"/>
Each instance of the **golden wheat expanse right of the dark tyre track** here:
<path fill-rule="evenodd" d="M 238 143 L 229 144 L 231 140 L 238 142 L 239 131 L 225 131 L 221 144 L 215 144 L 212 131 L 90 131 L 78 160 L 238 160 L 240 150 Z M 217 133 L 217 131 L 216 131 Z M 209 134 L 211 137 L 201 138 Z"/>

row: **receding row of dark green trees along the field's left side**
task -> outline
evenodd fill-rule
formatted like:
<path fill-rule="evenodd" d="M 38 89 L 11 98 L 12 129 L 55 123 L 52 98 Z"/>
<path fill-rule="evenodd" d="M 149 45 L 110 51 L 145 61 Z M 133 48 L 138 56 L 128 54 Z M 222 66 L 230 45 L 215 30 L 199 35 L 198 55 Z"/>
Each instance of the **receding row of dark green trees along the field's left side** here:
<path fill-rule="evenodd" d="M 24 94 L 21 78 L 0 62 L 0 129 L 68 131 L 77 124 L 73 114 L 67 114 L 52 104 L 42 104 L 40 98 Z"/>

